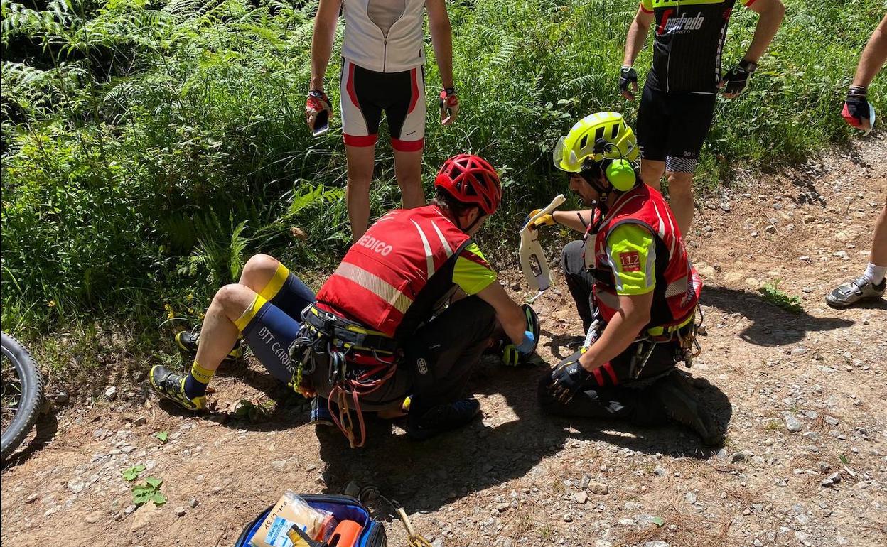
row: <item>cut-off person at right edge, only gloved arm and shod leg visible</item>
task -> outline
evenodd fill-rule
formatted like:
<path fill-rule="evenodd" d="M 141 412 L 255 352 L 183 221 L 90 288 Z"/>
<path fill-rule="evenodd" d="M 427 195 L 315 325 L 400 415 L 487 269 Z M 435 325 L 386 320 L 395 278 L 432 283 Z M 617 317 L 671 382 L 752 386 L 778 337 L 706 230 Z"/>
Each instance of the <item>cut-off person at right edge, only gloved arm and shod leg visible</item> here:
<path fill-rule="evenodd" d="M 853 84 L 847 92 L 844 120 L 855 128 L 866 132 L 875 123 L 875 109 L 868 104 L 866 92 L 868 84 L 875 79 L 875 74 L 887 61 L 887 15 L 875 28 L 875 33 L 868 40 L 866 49 L 862 51 L 860 64 L 856 67 Z M 872 254 L 866 271 L 860 277 L 838 285 L 826 296 L 826 302 L 833 308 L 845 308 L 859 301 L 877 300 L 887 289 L 887 204 L 875 223 L 875 235 L 872 238 Z"/>

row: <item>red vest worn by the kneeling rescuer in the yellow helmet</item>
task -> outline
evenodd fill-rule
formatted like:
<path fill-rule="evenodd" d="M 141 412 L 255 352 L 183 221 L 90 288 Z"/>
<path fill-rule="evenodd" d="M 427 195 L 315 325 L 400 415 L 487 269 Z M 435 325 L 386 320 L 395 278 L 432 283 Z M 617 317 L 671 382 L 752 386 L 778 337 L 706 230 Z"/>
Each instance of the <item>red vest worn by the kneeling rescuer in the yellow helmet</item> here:
<path fill-rule="evenodd" d="M 639 184 L 616 198 L 594 240 L 594 300 L 600 315 L 609 321 L 619 308 L 607 238 L 610 231 L 625 223 L 640 224 L 655 240 L 656 279 L 648 327 L 680 324 L 693 313 L 703 280 L 687 257 L 671 208 L 662 194 L 647 184 Z"/>

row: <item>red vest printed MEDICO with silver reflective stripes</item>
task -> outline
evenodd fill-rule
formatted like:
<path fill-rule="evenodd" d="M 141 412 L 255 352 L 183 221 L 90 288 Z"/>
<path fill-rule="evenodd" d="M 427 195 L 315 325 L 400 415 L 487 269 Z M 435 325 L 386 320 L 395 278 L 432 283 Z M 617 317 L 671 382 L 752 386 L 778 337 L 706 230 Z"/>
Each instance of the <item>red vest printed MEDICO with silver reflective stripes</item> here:
<path fill-rule="evenodd" d="M 414 302 L 420 300 L 424 309 L 426 302 L 436 300 L 437 295 L 423 293 L 428 281 L 469 242 L 468 235 L 436 205 L 395 209 L 351 246 L 320 288 L 318 305 L 395 337 Z M 449 291 L 451 276 L 445 281 L 435 283 L 433 292 L 443 296 Z"/>

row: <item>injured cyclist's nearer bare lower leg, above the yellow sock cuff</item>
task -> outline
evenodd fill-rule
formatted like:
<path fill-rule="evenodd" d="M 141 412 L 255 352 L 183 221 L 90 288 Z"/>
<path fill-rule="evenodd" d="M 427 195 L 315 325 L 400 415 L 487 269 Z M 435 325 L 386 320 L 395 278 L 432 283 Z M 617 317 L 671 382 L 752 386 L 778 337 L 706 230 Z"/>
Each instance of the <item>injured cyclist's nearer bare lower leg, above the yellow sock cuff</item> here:
<path fill-rule="evenodd" d="M 219 368 L 239 336 L 234 321 L 253 305 L 255 295 L 249 287 L 234 283 L 218 290 L 200 326 L 200 345 L 195 360 L 201 367 L 208 371 Z"/>

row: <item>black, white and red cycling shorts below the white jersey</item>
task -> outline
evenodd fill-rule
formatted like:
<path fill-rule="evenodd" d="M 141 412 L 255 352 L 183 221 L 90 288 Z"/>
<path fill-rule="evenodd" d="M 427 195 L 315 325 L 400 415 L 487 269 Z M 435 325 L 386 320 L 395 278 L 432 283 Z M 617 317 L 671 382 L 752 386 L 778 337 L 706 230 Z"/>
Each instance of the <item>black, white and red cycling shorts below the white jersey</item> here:
<path fill-rule="evenodd" d="M 425 74 L 422 66 L 404 72 L 374 72 L 348 59 L 341 66 L 341 124 L 345 144 L 373 146 L 382 111 L 391 146 L 416 152 L 425 144 Z"/>

